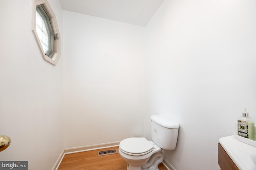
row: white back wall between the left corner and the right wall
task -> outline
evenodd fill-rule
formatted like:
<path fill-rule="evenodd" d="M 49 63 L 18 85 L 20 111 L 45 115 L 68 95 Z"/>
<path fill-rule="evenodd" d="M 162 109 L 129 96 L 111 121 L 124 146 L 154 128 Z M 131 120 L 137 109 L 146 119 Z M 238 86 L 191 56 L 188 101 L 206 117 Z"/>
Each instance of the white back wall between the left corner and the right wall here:
<path fill-rule="evenodd" d="M 143 135 L 144 27 L 63 12 L 64 148 Z"/>

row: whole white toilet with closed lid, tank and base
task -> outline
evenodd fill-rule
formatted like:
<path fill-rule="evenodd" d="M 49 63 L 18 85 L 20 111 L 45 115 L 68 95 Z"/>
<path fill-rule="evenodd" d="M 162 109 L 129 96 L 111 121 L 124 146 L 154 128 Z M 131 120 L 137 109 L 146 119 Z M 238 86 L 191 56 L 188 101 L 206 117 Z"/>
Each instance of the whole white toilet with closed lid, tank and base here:
<path fill-rule="evenodd" d="M 158 170 L 158 164 L 164 160 L 162 149 L 176 148 L 179 127 L 174 121 L 152 115 L 152 141 L 144 137 L 132 137 L 119 144 L 119 154 L 128 163 L 127 170 Z"/>

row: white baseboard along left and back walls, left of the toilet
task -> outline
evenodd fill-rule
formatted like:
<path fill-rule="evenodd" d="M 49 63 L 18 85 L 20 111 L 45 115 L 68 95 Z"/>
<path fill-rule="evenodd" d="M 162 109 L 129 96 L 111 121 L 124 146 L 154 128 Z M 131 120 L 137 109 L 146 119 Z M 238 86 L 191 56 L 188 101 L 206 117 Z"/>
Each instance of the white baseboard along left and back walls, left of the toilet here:
<path fill-rule="evenodd" d="M 89 150 L 96 150 L 96 149 L 104 149 L 104 148 L 111 148 L 111 147 L 118 147 L 120 142 L 110 142 L 110 143 L 101 143 L 96 145 L 87 145 L 83 147 L 74 147 L 74 148 L 67 148 L 62 150 L 60 156 L 56 163 L 54 164 L 52 170 L 58 170 L 60 163 L 65 156 L 65 154 L 77 153 L 77 152 L 84 152 Z"/>

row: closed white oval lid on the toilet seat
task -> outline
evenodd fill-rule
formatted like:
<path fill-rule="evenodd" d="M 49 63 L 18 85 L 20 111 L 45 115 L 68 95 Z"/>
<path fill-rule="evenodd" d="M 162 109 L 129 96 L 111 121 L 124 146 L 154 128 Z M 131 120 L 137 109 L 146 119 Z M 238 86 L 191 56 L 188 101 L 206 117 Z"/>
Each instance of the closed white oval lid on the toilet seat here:
<path fill-rule="evenodd" d="M 122 140 L 119 147 L 126 154 L 139 156 L 151 152 L 154 145 L 144 137 L 132 137 Z"/>

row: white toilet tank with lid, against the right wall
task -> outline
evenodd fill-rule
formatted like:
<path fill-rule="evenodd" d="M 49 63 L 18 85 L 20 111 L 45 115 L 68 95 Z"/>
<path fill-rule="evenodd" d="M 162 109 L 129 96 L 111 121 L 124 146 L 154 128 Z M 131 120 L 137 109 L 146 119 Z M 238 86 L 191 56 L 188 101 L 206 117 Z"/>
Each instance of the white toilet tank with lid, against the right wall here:
<path fill-rule="evenodd" d="M 180 125 L 160 115 L 151 116 L 151 137 L 158 147 L 174 150 Z"/>

